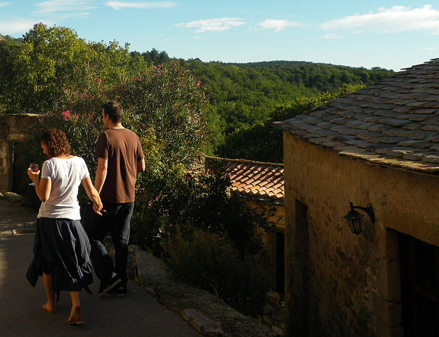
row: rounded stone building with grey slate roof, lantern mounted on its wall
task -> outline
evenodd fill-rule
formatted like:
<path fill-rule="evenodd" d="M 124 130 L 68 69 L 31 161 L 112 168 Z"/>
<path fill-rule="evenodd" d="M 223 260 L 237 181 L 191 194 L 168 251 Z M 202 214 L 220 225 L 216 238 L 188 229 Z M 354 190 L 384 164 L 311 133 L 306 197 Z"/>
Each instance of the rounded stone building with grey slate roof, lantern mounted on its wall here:
<path fill-rule="evenodd" d="M 286 336 L 438 336 L 439 59 L 276 126 Z"/>

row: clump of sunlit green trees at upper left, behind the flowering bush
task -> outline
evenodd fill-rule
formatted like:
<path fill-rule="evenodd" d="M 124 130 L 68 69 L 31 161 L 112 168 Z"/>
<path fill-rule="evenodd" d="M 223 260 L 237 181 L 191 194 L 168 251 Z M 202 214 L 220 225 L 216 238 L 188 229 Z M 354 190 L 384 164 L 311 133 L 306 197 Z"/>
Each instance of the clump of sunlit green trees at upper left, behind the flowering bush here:
<path fill-rule="evenodd" d="M 10 73 L 0 92 L 8 102 L 5 113 L 45 113 L 66 91 L 89 91 L 96 80 L 109 90 L 147 67 L 141 56 L 130 56 L 128 45 L 86 43 L 67 27 L 43 23 L 34 25 L 1 64 Z"/>

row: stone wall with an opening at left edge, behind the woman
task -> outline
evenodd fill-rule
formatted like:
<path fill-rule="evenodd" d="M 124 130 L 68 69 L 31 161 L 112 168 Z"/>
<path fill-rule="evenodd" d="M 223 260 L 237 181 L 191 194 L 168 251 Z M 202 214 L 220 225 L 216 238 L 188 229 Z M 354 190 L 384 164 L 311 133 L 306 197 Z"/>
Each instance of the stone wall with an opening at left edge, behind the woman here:
<path fill-rule="evenodd" d="M 12 156 L 14 142 L 23 141 L 29 125 L 39 115 L 4 115 L 0 117 L 0 193 L 12 191 Z"/>

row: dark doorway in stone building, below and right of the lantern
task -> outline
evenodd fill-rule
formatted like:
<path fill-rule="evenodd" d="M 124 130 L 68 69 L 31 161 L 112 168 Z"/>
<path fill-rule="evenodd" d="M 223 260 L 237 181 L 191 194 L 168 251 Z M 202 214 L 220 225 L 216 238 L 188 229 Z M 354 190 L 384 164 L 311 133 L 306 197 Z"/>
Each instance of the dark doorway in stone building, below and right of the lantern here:
<path fill-rule="evenodd" d="M 439 336 L 439 247 L 401 234 L 404 336 Z"/>

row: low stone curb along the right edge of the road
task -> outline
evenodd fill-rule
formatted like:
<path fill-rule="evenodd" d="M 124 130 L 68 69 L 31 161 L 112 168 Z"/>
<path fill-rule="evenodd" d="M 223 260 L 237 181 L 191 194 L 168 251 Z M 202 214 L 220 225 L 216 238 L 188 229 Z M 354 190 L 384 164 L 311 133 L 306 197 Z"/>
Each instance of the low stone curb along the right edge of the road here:
<path fill-rule="evenodd" d="M 165 264 L 139 246 L 130 246 L 134 279 L 169 310 L 181 314 L 204 336 L 282 336 L 257 319 L 237 312 L 205 290 L 172 280 Z"/>

